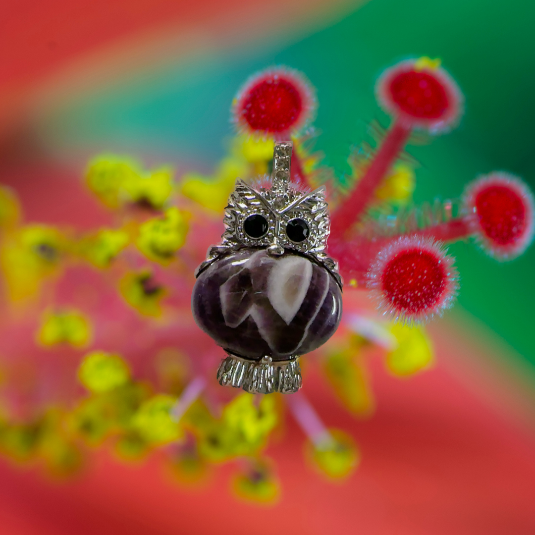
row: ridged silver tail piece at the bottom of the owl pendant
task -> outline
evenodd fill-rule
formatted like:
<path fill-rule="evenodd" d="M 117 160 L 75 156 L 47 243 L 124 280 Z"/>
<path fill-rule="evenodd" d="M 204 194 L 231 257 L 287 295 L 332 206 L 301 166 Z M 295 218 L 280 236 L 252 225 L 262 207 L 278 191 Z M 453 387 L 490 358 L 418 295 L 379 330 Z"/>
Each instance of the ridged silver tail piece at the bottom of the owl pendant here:
<path fill-rule="evenodd" d="M 217 380 L 222 386 L 243 388 L 251 394 L 292 394 L 303 384 L 297 356 L 285 361 L 268 356 L 253 361 L 229 353 L 219 364 Z"/>

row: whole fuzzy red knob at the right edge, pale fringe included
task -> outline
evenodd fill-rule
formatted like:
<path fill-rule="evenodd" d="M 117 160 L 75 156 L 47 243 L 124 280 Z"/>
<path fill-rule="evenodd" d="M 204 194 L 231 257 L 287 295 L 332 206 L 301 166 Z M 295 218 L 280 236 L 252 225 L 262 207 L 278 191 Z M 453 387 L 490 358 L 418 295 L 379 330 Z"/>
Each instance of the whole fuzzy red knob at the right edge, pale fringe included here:
<path fill-rule="evenodd" d="M 506 260 L 521 255 L 533 240 L 535 203 L 517 177 L 495 172 L 469 184 L 464 205 L 473 213 L 472 230 L 491 256 Z"/>

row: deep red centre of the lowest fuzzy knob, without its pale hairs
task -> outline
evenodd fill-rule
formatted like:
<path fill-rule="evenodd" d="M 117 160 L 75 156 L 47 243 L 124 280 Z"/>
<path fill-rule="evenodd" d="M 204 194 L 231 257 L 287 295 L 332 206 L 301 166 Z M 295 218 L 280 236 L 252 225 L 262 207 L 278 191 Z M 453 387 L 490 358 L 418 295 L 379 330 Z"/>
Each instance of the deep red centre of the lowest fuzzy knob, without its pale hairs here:
<path fill-rule="evenodd" d="M 395 308 L 416 315 L 437 304 L 446 287 L 446 273 L 440 258 L 428 251 L 412 249 L 388 262 L 381 284 Z"/>

